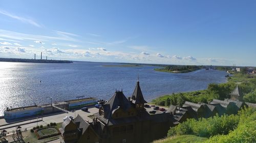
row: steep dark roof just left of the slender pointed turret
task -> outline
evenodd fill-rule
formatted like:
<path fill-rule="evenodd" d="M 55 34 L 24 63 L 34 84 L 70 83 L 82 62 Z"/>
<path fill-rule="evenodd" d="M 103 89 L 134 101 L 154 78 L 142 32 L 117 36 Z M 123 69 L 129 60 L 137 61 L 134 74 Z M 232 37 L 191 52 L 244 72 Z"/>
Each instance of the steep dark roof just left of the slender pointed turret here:
<path fill-rule="evenodd" d="M 111 97 L 111 99 L 108 102 L 106 102 L 106 104 L 102 105 L 102 108 L 104 110 L 104 118 L 110 119 L 113 110 L 117 108 L 122 108 L 126 111 L 131 107 L 131 103 L 123 95 L 123 92 L 116 91 L 115 94 Z"/>

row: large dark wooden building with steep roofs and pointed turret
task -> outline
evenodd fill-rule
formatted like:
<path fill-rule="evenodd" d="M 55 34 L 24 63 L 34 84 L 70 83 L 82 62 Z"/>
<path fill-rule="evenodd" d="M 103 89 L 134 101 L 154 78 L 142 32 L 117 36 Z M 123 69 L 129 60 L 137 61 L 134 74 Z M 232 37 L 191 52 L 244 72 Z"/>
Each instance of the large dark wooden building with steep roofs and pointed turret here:
<path fill-rule="evenodd" d="M 116 91 L 94 114 L 92 123 L 79 115 L 74 121 L 63 122 L 61 142 L 139 143 L 165 137 L 169 128 L 174 126 L 173 115 L 168 112 L 151 115 L 144 108 L 145 103 L 139 81 L 131 98 L 126 98 L 122 91 Z"/>

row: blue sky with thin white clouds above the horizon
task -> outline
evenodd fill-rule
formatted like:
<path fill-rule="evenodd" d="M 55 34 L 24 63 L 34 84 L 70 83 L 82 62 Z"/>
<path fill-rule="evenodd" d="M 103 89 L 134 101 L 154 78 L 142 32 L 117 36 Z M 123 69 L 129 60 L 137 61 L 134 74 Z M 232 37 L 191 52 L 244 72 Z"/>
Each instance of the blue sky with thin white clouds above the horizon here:
<path fill-rule="evenodd" d="M 0 1 L 0 57 L 256 66 L 256 1 Z"/>

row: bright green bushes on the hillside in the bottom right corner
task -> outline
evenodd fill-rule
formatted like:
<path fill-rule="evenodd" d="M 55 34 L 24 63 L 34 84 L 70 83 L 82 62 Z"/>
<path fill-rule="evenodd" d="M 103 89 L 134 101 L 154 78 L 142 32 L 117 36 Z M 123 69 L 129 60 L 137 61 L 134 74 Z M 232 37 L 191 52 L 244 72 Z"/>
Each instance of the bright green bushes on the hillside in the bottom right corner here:
<path fill-rule="evenodd" d="M 255 108 L 245 108 L 238 115 L 188 119 L 170 128 L 168 137 L 191 134 L 209 138 L 205 142 L 256 142 L 255 125 Z"/>

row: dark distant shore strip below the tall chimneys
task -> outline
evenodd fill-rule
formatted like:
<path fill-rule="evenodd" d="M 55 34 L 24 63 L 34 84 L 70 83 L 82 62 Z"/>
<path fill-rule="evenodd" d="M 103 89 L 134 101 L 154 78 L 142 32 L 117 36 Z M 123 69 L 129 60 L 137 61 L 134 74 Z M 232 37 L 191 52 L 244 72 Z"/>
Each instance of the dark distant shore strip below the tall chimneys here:
<path fill-rule="evenodd" d="M 16 59 L 0 58 L 0 62 L 19 62 L 19 63 L 73 63 L 67 60 L 38 60 L 38 59 Z"/>

